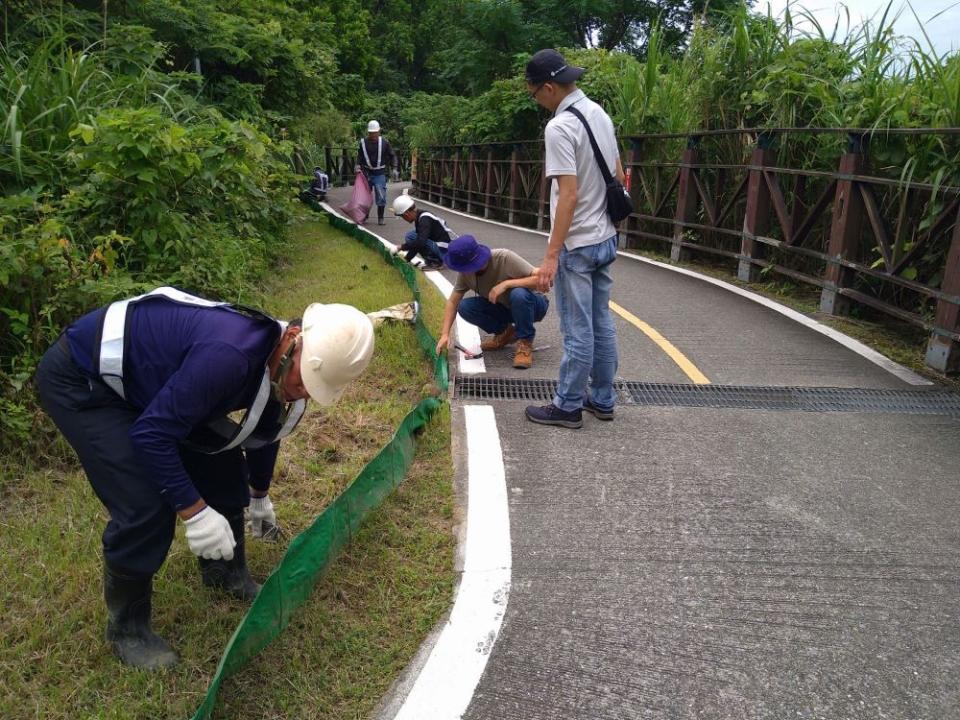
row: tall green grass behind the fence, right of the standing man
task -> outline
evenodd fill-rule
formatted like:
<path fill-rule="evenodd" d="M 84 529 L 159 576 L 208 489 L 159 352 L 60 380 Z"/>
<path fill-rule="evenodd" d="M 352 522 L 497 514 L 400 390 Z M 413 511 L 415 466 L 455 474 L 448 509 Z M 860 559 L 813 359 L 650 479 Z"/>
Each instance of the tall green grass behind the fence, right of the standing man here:
<path fill-rule="evenodd" d="M 912 6 L 903 12 L 916 16 Z M 955 183 L 960 148 L 945 136 L 885 137 L 888 128 L 960 126 L 960 54 L 938 53 L 923 31 L 898 36 L 893 2 L 860 23 L 849 10 L 824 26 L 800 4 L 779 16 L 746 7 L 720 22 L 699 21 L 679 54 L 664 52 L 658 31 L 645 63 L 620 85 L 612 108 L 621 134 L 721 128 L 858 127 L 870 130 L 878 170 L 914 180 Z M 935 21 L 935 18 L 933 19 Z M 791 141 L 784 161 L 832 167 L 844 138 Z M 656 149 L 651 148 L 653 152 Z M 665 148 L 676 160 L 673 147 Z M 739 162 L 728 142 L 720 161 Z M 655 158 L 652 158 L 655 159 Z"/>

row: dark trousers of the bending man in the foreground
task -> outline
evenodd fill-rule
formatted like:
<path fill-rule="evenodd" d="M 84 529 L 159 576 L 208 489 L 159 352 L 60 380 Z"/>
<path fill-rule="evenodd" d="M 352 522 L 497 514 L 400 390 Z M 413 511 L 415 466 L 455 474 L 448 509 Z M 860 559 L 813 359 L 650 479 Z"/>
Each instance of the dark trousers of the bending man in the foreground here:
<path fill-rule="evenodd" d="M 140 411 L 100 380 L 84 375 L 65 338 L 40 361 L 40 405 L 80 458 L 93 491 L 110 513 L 103 555 L 111 566 L 152 575 L 173 542 L 177 515 L 130 442 Z M 216 455 L 180 449 L 197 491 L 208 505 L 229 515 L 250 502 L 246 460 L 239 448 Z"/>

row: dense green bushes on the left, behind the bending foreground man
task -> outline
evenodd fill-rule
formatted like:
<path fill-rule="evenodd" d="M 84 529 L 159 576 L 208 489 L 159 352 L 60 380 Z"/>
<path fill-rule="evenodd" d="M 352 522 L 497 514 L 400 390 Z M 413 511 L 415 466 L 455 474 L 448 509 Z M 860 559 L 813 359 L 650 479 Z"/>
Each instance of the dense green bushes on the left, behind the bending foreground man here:
<path fill-rule="evenodd" d="M 282 247 L 285 154 L 161 73 L 162 46 L 61 24 L 0 48 L 0 436 L 36 437 L 27 380 L 69 321 L 162 283 L 253 299 Z"/>

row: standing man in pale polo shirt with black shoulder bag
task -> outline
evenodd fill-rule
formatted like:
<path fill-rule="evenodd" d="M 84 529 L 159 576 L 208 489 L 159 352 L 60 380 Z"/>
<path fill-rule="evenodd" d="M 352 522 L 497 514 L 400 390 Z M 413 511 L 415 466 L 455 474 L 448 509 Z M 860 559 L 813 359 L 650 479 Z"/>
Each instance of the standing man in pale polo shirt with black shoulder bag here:
<path fill-rule="evenodd" d="M 577 88 L 575 81 L 583 72 L 556 50 L 540 50 L 526 68 L 530 97 L 553 112 L 544 131 L 544 177 L 554 180 L 550 240 L 537 276 L 541 292 L 556 286 L 563 333 L 553 402 L 530 406 L 526 412 L 533 422 L 568 428 L 583 425 L 582 410 L 613 420 L 616 399 L 617 334 L 608 304 L 617 229 L 607 214 L 606 183 L 584 122 L 610 173 L 621 183 L 623 167 L 610 116 Z"/>

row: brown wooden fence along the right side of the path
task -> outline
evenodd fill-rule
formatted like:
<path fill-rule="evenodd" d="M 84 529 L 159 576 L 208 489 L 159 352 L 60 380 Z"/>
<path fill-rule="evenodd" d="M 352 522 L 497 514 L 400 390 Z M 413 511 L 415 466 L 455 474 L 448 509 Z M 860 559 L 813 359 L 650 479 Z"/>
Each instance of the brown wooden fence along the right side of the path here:
<path fill-rule="evenodd" d="M 825 313 L 866 307 L 926 328 L 927 363 L 958 372 L 960 187 L 910 179 L 906 150 L 925 142 L 955 151 L 960 128 L 628 138 L 636 211 L 621 233 L 628 248 L 709 255 L 749 282 L 815 286 Z M 413 178 L 428 201 L 549 229 L 542 142 L 433 147 Z"/>

